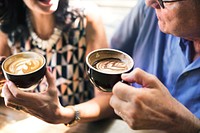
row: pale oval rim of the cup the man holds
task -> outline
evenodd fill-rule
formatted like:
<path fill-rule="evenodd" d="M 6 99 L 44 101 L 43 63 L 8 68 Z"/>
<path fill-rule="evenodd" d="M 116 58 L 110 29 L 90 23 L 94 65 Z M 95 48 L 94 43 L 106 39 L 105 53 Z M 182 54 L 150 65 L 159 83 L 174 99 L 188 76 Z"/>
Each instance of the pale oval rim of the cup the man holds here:
<path fill-rule="evenodd" d="M 123 51 L 120 51 L 120 50 L 117 50 L 117 49 L 113 49 L 113 48 L 100 48 L 100 49 L 96 49 L 96 50 L 93 50 L 92 52 L 90 52 L 87 56 L 86 56 L 86 64 L 90 67 L 90 69 L 93 69 L 99 73 L 103 73 L 103 74 L 110 74 L 110 73 L 106 73 L 106 72 L 103 72 L 103 71 L 100 71 L 98 69 L 96 69 L 95 67 L 93 67 L 92 65 L 90 65 L 89 63 L 89 57 L 90 55 L 92 55 L 93 53 L 95 52 L 98 52 L 98 51 L 114 51 L 114 52 L 118 52 L 118 53 L 122 53 L 124 55 L 126 55 L 126 57 L 129 58 L 129 60 L 131 61 L 131 67 L 128 69 L 128 70 L 125 70 L 123 72 L 118 72 L 118 73 L 112 73 L 112 75 L 117 75 L 117 74 L 122 74 L 122 73 L 126 73 L 126 72 L 129 72 L 133 66 L 134 66 L 134 61 L 133 59 L 131 58 L 130 55 L 128 55 L 127 53 L 123 52 Z"/>

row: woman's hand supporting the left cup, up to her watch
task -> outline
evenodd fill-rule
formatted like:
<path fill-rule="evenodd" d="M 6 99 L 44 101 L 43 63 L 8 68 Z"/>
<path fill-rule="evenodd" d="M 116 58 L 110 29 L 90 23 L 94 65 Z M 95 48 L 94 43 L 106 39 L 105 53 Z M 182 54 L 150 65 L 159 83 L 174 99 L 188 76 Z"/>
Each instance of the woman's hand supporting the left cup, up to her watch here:
<path fill-rule="evenodd" d="M 74 118 L 74 112 L 61 106 L 55 78 L 49 69 L 46 71 L 46 78 L 48 88 L 41 93 L 23 92 L 11 81 L 7 81 L 2 90 L 5 105 L 12 108 L 20 107 L 21 110 L 49 123 L 68 123 Z"/>

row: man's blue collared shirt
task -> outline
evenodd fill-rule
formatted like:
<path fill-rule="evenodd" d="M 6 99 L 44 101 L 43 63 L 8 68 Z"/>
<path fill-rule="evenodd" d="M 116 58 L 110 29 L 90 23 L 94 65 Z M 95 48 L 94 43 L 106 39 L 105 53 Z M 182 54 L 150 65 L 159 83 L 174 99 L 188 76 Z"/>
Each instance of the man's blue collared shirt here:
<path fill-rule="evenodd" d="M 192 42 L 165 34 L 153 8 L 144 1 L 132 9 L 111 47 L 133 57 L 135 68 L 156 75 L 173 97 L 200 118 L 200 58 L 192 61 Z"/>

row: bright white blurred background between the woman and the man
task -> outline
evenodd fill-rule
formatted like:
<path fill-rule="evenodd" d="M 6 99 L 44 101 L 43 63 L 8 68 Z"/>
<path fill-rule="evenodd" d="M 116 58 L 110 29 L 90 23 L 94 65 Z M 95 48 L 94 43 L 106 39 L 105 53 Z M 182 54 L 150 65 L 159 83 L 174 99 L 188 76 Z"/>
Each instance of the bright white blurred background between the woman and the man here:
<path fill-rule="evenodd" d="M 111 36 L 123 18 L 133 8 L 138 0 L 71 0 L 84 3 L 94 3 L 99 7 L 106 28 L 107 39 Z M 86 4 L 89 6 L 89 4 Z M 91 7 L 90 7 L 91 8 Z"/>

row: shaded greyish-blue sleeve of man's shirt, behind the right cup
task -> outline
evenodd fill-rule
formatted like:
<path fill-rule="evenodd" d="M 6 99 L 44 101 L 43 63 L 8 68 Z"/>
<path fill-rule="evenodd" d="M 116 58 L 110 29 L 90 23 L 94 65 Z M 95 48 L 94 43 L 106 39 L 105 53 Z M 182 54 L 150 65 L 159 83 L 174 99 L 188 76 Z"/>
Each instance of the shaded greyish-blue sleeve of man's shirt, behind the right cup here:
<path fill-rule="evenodd" d="M 132 47 L 145 18 L 145 7 L 144 0 L 141 0 L 132 8 L 111 38 L 111 48 L 126 51 L 132 55 Z"/>

